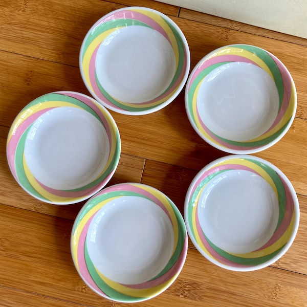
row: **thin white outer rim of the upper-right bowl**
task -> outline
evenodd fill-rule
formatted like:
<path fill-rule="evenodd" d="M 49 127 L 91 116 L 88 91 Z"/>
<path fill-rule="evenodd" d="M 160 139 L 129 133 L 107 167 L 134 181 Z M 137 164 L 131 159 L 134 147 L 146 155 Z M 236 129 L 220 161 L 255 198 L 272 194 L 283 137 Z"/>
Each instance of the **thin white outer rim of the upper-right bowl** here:
<path fill-rule="evenodd" d="M 247 46 L 247 47 L 253 47 L 253 48 L 256 48 L 258 50 L 261 50 L 261 51 L 264 51 L 266 52 L 267 54 L 269 54 L 270 56 L 273 56 L 279 63 L 280 65 L 283 67 L 283 69 L 287 72 L 287 75 L 289 77 L 289 79 L 291 80 L 291 87 L 293 89 L 293 94 L 294 94 L 294 105 L 293 105 L 293 113 L 292 113 L 292 116 L 291 116 L 291 119 L 289 120 L 288 124 L 285 125 L 285 128 L 284 130 L 282 131 L 282 133 L 276 137 L 273 141 L 265 144 L 265 145 L 261 145 L 261 146 L 258 146 L 256 148 L 249 148 L 249 149 L 231 149 L 231 148 L 228 148 L 228 147 L 224 147 L 220 144 L 216 144 L 214 142 L 212 142 L 211 140 L 209 140 L 206 136 L 204 136 L 201 131 L 199 130 L 199 128 L 195 125 L 193 119 L 192 119 L 192 116 L 190 114 L 190 111 L 189 111 L 189 99 L 188 99 L 188 89 L 189 89 L 189 84 L 191 82 L 191 78 L 192 76 L 194 75 L 195 71 L 200 67 L 200 65 L 207 60 L 208 57 L 210 57 L 211 55 L 213 55 L 214 53 L 220 51 L 220 50 L 223 50 L 223 49 L 226 49 L 226 48 L 231 48 L 231 47 L 236 47 L 236 46 Z M 242 154 L 242 155 L 248 155 L 250 153 L 257 153 L 257 152 L 260 152 L 262 150 L 265 150 L 265 149 L 268 149 L 270 148 L 271 146 L 275 145 L 276 143 L 278 143 L 283 137 L 284 135 L 287 134 L 287 132 L 289 131 L 293 121 L 294 121 L 294 118 L 295 118 L 295 114 L 296 114 L 296 110 L 297 110 L 297 91 L 296 91 L 296 85 L 295 85 L 295 82 L 293 80 L 293 77 L 291 75 L 291 73 L 289 72 L 288 68 L 286 67 L 286 65 L 283 64 L 283 62 L 278 58 L 276 57 L 274 54 L 272 54 L 271 52 L 267 51 L 266 49 L 263 49 L 263 48 L 260 48 L 258 46 L 255 46 L 255 45 L 250 45 L 250 44 L 246 44 L 246 43 L 234 43 L 234 44 L 230 44 L 230 45 L 225 45 L 225 46 L 222 46 L 222 47 L 218 47 L 212 51 L 210 51 L 209 53 L 207 53 L 203 58 L 201 58 L 198 63 L 196 63 L 196 65 L 194 66 L 193 70 L 191 71 L 190 75 L 189 75 L 189 78 L 186 82 L 186 87 L 185 87 L 185 109 L 186 109 L 186 114 L 187 114 L 187 117 L 189 119 L 189 122 L 190 124 L 192 125 L 193 129 L 195 130 L 195 132 L 204 140 L 206 141 L 209 145 L 219 149 L 219 150 L 222 150 L 224 152 L 227 152 L 227 153 L 232 153 L 232 154 Z"/>

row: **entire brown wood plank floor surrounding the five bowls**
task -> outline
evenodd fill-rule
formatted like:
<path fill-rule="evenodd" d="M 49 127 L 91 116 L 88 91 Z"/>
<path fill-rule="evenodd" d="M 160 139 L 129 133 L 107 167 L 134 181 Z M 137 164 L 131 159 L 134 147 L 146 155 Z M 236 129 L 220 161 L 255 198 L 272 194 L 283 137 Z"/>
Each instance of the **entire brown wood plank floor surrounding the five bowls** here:
<path fill-rule="evenodd" d="M 123 6 L 145 6 L 172 18 L 188 40 L 191 68 L 208 52 L 231 43 L 270 51 L 290 70 L 298 94 L 296 118 L 287 135 L 256 155 L 279 167 L 298 193 L 301 221 L 291 249 L 271 267 L 240 273 L 212 265 L 189 243 L 178 279 L 163 294 L 137 305 L 307 306 L 307 40 L 143 0 L 0 3 L 0 306 L 128 305 L 99 297 L 74 268 L 70 233 L 82 204 L 55 206 L 35 200 L 14 181 L 6 160 L 9 127 L 27 103 L 52 91 L 89 94 L 78 68 L 82 39 L 96 20 Z M 122 153 L 109 185 L 151 185 L 181 212 L 195 174 L 226 155 L 194 133 L 183 93 L 150 115 L 111 113 L 120 130 Z"/>

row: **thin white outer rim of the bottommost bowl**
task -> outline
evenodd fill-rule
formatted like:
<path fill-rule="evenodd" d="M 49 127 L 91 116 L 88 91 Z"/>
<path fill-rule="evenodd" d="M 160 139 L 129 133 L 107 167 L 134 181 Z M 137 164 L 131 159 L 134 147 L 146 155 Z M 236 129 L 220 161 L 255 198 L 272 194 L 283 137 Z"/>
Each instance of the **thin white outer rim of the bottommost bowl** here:
<path fill-rule="evenodd" d="M 101 293 L 99 293 L 96 289 L 94 289 L 91 284 L 86 280 L 86 278 L 79 272 L 79 270 L 77 269 L 77 260 L 75 259 L 75 257 L 73 256 L 73 245 L 74 245 L 74 233 L 76 231 L 76 227 L 77 227 L 77 221 L 79 220 L 79 218 L 82 216 L 83 214 L 83 211 L 84 209 L 86 209 L 86 206 L 92 202 L 97 196 L 100 196 L 102 194 L 107 194 L 108 193 L 108 190 L 109 189 L 114 189 L 114 188 L 117 188 L 117 187 L 121 187 L 121 186 L 125 186 L 125 185 L 134 185 L 134 186 L 137 186 L 137 187 L 140 187 L 140 188 L 149 188 L 151 191 L 155 192 L 155 193 L 158 193 L 159 195 L 161 196 L 164 196 L 166 198 L 166 200 L 169 202 L 173 212 L 176 212 L 176 215 L 180 218 L 180 223 L 178 223 L 178 226 L 181 228 L 182 231 L 184 231 L 184 242 L 183 242 L 183 246 L 182 246 L 182 250 L 181 250 L 181 254 L 182 257 L 179 259 L 176 260 L 176 263 L 178 261 L 181 261 L 179 262 L 179 266 L 178 266 L 178 269 L 176 270 L 176 273 L 172 275 L 171 279 L 168 279 L 167 281 L 164 281 L 164 286 L 158 290 L 158 291 L 155 291 L 153 294 L 150 294 L 150 296 L 147 296 L 147 297 L 142 297 L 140 299 L 135 299 L 135 300 L 120 300 L 120 299 L 115 299 L 115 298 L 112 298 L 112 297 L 109 297 L 107 295 L 102 295 Z M 111 191 L 112 192 L 112 191 Z M 98 205 L 98 204 L 96 204 Z M 95 206 L 96 206 L 95 205 Z M 99 211 L 99 210 L 98 210 Z M 97 211 L 97 212 L 98 212 Z M 96 213 L 95 213 L 96 214 Z M 83 229 L 83 228 L 82 228 Z M 176 204 L 174 204 L 172 202 L 172 200 L 166 195 L 164 194 L 162 191 L 152 187 L 152 186 L 149 186 L 147 184 L 142 184 L 142 183 L 137 183 L 137 182 L 123 182 L 123 183 L 118 183 L 118 184 L 115 184 L 115 185 L 111 185 L 111 186 L 108 186 L 104 189 L 102 189 L 101 191 L 99 191 L 98 193 L 94 194 L 89 200 L 86 201 L 86 203 L 82 206 L 82 208 L 79 210 L 76 218 L 75 218 L 75 221 L 74 221 L 74 224 L 73 224 L 73 227 L 72 227 L 72 231 L 71 231 L 71 239 L 70 239 L 70 250 L 71 250 L 71 256 L 72 256 L 72 259 L 73 259 L 73 263 L 74 263 L 74 266 L 75 266 L 75 269 L 77 270 L 78 272 L 78 275 L 80 276 L 80 278 L 86 283 L 86 285 L 91 289 L 93 290 L 95 293 L 97 293 L 99 296 L 101 297 L 104 297 L 106 299 L 109 299 L 109 300 L 114 300 L 114 301 L 117 301 L 117 302 L 123 302 L 123 303 L 133 303 L 133 302 L 141 302 L 141 301 L 146 301 L 146 300 L 149 300 L 153 297 L 156 297 L 158 296 L 159 294 L 163 293 L 166 289 L 168 289 L 172 283 L 178 278 L 179 274 L 181 273 L 183 267 L 184 267 L 184 264 L 185 264 L 185 260 L 186 260 L 186 257 L 187 257 L 187 251 L 188 251 L 188 233 L 187 233 L 187 229 L 186 229 L 186 224 L 184 222 L 184 217 L 183 215 L 181 214 L 180 210 L 178 209 L 178 207 L 176 206 Z M 180 257 L 180 256 L 179 256 Z M 89 275 L 91 276 L 91 274 L 89 273 Z M 101 289 L 101 288 L 100 288 Z M 147 289 L 150 289 L 150 288 L 147 288 Z M 102 290 L 102 289 L 101 289 Z"/>

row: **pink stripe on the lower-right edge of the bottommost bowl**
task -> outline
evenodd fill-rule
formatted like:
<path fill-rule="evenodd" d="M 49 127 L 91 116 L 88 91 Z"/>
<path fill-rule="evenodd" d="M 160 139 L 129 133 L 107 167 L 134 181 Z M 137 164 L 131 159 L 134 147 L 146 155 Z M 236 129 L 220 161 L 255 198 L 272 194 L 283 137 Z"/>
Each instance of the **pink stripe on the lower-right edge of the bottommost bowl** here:
<path fill-rule="evenodd" d="M 160 276 L 159 278 L 149 280 L 149 281 L 146 281 L 146 282 L 143 282 L 143 283 L 123 284 L 123 286 L 129 287 L 129 288 L 132 288 L 132 289 L 149 289 L 149 288 L 152 288 L 152 287 L 157 287 L 157 286 L 159 286 L 159 284 L 162 284 L 162 283 L 168 281 L 174 275 L 176 275 L 178 272 L 180 272 L 182 270 L 185 259 L 186 259 L 187 250 L 188 250 L 188 238 L 186 236 L 184 246 L 183 246 L 183 249 L 180 253 L 180 256 L 178 257 L 178 260 L 169 269 L 169 271 L 167 271 L 164 275 Z"/>

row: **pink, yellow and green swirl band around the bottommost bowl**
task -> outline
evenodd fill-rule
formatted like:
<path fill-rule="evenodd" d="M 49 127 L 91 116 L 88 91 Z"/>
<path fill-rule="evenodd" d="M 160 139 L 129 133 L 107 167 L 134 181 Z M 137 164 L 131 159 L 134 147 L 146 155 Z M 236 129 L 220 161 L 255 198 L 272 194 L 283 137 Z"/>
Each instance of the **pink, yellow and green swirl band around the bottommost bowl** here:
<path fill-rule="evenodd" d="M 115 198 L 138 196 L 156 203 L 169 217 L 174 231 L 174 248 L 166 267 L 153 279 L 140 284 L 121 284 L 108 279 L 93 265 L 86 248 L 86 233 L 95 214 Z M 124 302 L 136 302 L 156 296 L 179 275 L 187 253 L 185 223 L 177 207 L 161 192 L 142 184 L 119 184 L 105 188 L 89 200 L 79 212 L 72 230 L 74 264 L 83 280 L 100 295 Z"/>

